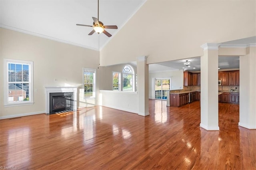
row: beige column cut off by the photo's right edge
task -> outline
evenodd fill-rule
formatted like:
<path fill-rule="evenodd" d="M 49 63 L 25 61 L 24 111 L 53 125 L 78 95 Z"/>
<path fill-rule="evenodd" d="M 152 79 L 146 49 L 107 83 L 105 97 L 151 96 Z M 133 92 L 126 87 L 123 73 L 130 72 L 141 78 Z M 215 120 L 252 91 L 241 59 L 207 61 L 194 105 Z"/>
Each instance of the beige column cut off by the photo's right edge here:
<path fill-rule="evenodd" d="M 256 129 L 256 47 L 247 47 L 240 56 L 239 123 L 241 127 Z"/>

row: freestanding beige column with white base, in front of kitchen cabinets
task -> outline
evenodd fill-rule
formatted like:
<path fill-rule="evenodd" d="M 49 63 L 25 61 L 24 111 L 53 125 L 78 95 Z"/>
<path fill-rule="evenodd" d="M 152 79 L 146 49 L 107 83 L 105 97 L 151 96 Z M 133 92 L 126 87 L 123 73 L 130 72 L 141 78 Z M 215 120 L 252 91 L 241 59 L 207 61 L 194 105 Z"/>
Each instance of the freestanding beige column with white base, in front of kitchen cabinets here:
<path fill-rule="evenodd" d="M 201 56 L 201 123 L 205 130 L 218 126 L 218 43 L 205 43 Z"/>

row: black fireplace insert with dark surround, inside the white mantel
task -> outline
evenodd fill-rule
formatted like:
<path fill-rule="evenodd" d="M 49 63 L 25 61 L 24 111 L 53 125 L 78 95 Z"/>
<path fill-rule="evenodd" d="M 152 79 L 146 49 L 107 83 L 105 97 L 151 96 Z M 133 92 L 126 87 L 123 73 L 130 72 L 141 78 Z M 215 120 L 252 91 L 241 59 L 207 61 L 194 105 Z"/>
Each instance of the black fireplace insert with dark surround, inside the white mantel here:
<path fill-rule="evenodd" d="M 74 101 L 74 93 L 50 93 L 50 114 L 73 111 L 74 107 L 72 101 Z"/>

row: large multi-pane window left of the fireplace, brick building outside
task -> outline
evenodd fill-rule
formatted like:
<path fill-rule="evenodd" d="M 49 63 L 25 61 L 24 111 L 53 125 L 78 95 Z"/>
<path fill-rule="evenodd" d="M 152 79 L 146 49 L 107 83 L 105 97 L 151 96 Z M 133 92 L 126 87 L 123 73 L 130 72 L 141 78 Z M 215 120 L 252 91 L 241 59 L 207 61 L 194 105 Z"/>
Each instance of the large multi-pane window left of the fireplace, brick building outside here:
<path fill-rule="evenodd" d="M 33 104 L 33 62 L 4 59 L 4 105 Z"/>

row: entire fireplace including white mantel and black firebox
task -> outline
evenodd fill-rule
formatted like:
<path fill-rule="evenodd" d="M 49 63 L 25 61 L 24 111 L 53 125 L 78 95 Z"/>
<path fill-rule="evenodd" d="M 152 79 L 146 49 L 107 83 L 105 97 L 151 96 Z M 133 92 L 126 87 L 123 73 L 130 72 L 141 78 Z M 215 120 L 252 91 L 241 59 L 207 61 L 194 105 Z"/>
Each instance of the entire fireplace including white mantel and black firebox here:
<path fill-rule="evenodd" d="M 77 87 L 45 87 L 46 114 L 76 111 Z"/>

